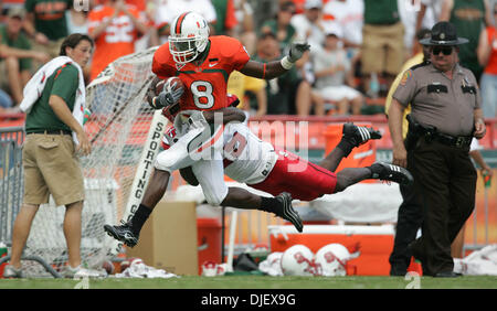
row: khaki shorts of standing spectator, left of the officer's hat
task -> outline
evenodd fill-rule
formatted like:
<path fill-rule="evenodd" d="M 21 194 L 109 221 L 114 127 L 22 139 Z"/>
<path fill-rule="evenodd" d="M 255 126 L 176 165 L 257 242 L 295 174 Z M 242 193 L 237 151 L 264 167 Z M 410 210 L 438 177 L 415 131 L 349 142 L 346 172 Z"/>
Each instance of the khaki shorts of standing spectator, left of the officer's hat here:
<path fill-rule="evenodd" d="M 364 74 L 396 75 L 404 63 L 404 25 L 364 24 L 362 28 L 361 65 Z"/>

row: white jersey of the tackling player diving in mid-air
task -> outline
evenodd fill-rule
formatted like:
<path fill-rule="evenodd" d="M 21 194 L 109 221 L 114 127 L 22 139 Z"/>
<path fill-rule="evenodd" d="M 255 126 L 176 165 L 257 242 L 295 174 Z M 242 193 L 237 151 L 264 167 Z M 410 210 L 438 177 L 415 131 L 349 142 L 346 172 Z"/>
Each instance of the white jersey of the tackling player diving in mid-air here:
<path fill-rule="evenodd" d="M 241 183 L 263 182 L 278 159 L 274 147 L 248 127 L 231 122 L 224 128 L 224 173 Z"/>

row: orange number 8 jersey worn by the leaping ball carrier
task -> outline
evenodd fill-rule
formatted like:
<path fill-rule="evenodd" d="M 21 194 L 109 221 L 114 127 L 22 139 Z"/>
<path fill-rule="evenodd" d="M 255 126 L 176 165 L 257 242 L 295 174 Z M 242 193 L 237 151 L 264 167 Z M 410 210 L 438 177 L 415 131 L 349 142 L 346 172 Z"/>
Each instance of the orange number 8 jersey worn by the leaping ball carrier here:
<path fill-rule="evenodd" d="M 250 61 L 245 47 L 236 39 L 214 35 L 209 55 L 197 66 L 179 65 L 172 60 L 169 43 L 162 44 L 154 54 L 152 72 L 160 78 L 178 76 L 184 84 L 180 101 L 181 110 L 215 110 L 228 107 L 226 85 L 231 72 L 240 71 Z"/>

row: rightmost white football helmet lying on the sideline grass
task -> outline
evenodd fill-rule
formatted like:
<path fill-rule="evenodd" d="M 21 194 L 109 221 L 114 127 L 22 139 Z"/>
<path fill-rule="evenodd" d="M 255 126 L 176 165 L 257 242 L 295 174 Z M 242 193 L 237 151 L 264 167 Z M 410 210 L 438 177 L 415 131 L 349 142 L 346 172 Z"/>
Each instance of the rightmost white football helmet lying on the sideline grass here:
<path fill-rule="evenodd" d="M 359 251 L 350 251 L 341 244 L 331 243 L 316 253 L 315 264 L 320 276 L 336 277 L 347 275 L 347 261 L 359 256 Z"/>

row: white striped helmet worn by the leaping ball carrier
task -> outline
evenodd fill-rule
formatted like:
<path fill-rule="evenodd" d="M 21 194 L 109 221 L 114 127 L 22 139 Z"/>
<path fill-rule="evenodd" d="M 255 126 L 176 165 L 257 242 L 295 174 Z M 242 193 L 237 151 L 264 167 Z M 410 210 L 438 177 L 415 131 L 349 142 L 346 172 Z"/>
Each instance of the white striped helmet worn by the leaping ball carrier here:
<path fill-rule="evenodd" d="M 209 43 L 209 24 L 201 14 L 184 12 L 172 22 L 168 41 L 176 63 L 192 62 Z"/>

